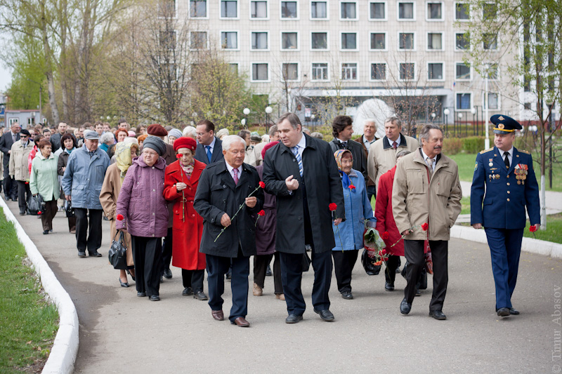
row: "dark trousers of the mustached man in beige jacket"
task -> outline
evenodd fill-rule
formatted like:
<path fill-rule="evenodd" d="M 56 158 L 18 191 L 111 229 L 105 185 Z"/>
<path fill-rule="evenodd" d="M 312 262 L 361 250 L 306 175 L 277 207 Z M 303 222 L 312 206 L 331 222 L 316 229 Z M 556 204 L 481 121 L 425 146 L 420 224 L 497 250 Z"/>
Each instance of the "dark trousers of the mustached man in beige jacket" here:
<path fill-rule="evenodd" d="M 449 242 L 444 240 L 430 240 L 431 258 L 433 260 L 433 295 L 429 302 L 429 310 L 436 311 L 443 309 L 445 294 L 447 293 L 448 275 L 448 248 Z M 407 286 L 404 289 L 404 297 L 407 302 L 412 303 L 416 295 L 416 285 L 421 274 L 421 269 L 425 267 L 424 241 L 405 240 L 404 255 L 408 261 L 406 267 Z"/>

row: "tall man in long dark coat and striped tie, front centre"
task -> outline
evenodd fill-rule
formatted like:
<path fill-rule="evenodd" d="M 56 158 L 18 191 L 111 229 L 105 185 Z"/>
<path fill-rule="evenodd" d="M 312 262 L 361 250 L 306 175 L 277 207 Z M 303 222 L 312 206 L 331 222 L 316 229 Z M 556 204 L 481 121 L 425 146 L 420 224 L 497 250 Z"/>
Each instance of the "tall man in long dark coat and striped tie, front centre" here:
<path fill-rule="evenodd" d="M 289 316 L 286 323 L 303 319 L 306 309 L 301 291 L 305 246 L 312 248 L 314 312 L 334 321 L 328 291 L 332 280 L 332 212 L 334 224 L 344 217 L 344 192 L 336 160 L 329 145 L 303 134 L 299 117 L 283 114 L 277 121 L 281 142 L 266 154 L 263 182 L 266 192 L 277 197 L 275 250 L 280 253 L 283 292 Z M 362 152 L 362 151 L 361 151 Z M 313 224 L 314 223 L 314 224 Z M 327 234 L 329 233 L 329 234 Z"/>

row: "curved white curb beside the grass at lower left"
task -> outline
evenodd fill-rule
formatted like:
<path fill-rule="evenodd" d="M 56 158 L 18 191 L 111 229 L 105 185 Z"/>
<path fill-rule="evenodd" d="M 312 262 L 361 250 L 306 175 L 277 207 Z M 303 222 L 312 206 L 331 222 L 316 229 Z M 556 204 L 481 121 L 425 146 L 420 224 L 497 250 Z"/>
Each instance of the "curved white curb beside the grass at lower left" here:
<path fill-rule="evenodd" d="M 74 361 L 78 354 L 78 314 L 76 307 L 63 286 L 59 283 L 53 270 L 48 267 L 47 262 L 37 250 L 29 236 L 25 233 L 20 222 L 15 219 L 12 211 L 6 205 L 6 201 L 0 198 L 0 206 L 4 208 L 6 220 L 13 222 L 18 239 L 25 247 L 27 257 L 30 258 L 34 270 L 41 280 L 48 297 L 53 300 L 59 315 L 58 332 L 53 342 L 53 349 L 49 354 L 42 373 L 72 373 Z"/>

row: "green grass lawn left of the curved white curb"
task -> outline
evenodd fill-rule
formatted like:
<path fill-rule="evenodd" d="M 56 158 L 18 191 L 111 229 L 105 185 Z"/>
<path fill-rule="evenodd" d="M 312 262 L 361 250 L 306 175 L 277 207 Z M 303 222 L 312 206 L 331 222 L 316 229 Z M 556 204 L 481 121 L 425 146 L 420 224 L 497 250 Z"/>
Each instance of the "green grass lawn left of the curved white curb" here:
<path fill-rule="evenodd" d="M 58 330 L 58 312 L 24 265 L 15 229 L 0 208 L 0 373 L 41 370 Z"/>

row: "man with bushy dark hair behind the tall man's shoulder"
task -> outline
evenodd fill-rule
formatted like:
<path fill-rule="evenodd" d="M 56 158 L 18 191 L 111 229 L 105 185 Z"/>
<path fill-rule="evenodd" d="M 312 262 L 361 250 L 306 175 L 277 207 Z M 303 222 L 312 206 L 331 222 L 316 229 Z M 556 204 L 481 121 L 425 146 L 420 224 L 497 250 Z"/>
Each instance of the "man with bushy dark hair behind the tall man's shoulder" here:
<path fill-rule="evenodd" d="M 348 149 L 353 156 L 353 168 L 360 171 L 365 178 L 365 183 L 369 180 L 367 174 L 367 157 L 361 145 L 355 140 L 351 140 L 353 135 L 353 119 L 350 116 L 336 116 L 332 121 L 332 135 L 334 139 L 329 142 L 332 154 L 338 149 Z"/>

